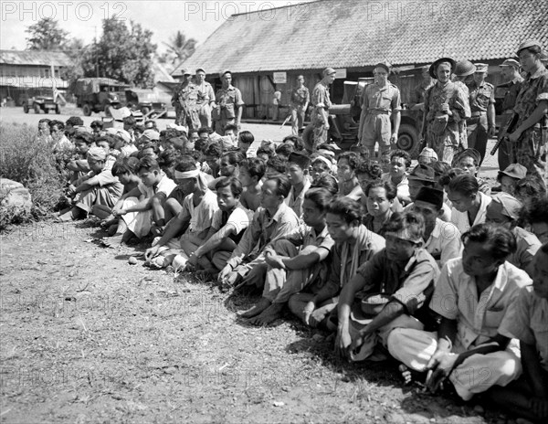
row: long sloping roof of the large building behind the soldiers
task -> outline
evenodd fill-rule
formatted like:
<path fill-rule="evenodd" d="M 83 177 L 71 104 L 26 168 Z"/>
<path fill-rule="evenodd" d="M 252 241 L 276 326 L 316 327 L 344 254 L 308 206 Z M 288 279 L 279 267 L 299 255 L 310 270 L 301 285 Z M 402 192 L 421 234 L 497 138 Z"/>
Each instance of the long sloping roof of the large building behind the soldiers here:
<path fill-rule="evenodd" d="M 508 58 L 526 38 L 547 48 L 546 22 L 548 0 L 322 0 L 232 16 L 178 69 L 212 74 Z"/>

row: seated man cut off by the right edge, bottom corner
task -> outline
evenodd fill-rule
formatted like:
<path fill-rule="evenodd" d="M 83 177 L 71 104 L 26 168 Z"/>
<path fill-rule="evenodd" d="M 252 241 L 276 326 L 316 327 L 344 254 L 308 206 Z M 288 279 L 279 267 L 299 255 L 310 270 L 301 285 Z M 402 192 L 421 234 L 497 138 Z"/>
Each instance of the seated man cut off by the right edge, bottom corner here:
<path fill-rule="evenodd" d="M 524 287 L 501 323 L 500 333 L 520 340 L 523 374 L 489 398 L 519 417 L 548 419 L 548 244 L 534 256 L 532 286 Z"/>

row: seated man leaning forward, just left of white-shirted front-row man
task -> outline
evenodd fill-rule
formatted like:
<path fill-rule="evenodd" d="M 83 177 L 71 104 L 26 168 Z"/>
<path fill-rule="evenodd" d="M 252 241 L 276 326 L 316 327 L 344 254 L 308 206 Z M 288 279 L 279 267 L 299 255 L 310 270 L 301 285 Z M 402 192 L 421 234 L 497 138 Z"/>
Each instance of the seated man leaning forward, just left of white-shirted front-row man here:
<path fill-rule="evenodd" d="M 387 345 L 395 328 L 424 328 L 423 306 L 439 275 L 436 261 L 422 247 L 424 229 L 420 215 L 395 214 L 383 230 L 386 249 L 342 288 L 335 342 L 342 357 L 363 361 L 374 355 L 379 342 Z"/>

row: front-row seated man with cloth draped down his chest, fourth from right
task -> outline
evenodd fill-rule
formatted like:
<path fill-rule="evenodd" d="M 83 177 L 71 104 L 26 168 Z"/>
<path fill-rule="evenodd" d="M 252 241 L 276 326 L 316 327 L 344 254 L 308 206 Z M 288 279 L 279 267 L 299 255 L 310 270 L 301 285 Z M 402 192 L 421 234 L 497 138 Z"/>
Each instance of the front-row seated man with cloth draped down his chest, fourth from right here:
<path fill-rule="evenodd" d="M 361 264 L 385 249 L 385 238 L 365 228 L 363 217 L 364 208 L 349 197 L 337 197 L 327 207 L 327 228 L 335 242 L 329 277 L 324 284 L 311 284 L 290 297 L 291 312 L 307 325 L 326 328 L 344 284 Z"/>

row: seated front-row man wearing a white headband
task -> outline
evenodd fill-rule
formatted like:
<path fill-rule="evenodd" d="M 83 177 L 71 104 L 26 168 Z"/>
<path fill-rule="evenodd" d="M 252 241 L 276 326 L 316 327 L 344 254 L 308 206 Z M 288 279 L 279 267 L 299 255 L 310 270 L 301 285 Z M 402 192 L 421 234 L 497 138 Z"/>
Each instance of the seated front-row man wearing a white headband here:
<path fill-rule="evenodd" d="M 174 262 L 175 269 L 184 269 L 188 257 L 204 243 L 218 209 L 215 193 L 207 188 L 205 174 L 195 163 L 175 165 L 174 176 L 183 192 L 189 194 L 184 197 L 179 215 L 169 221 L 163 236 L 154 238 L 153 247 L 145 252 L 145 259 L 154 268 Z"/>

